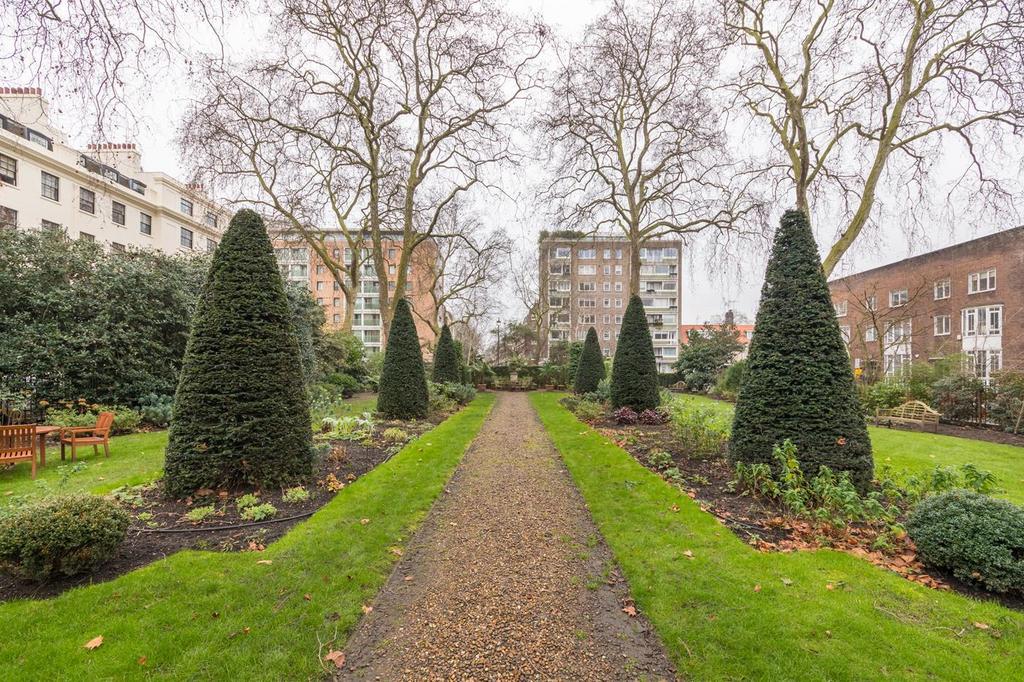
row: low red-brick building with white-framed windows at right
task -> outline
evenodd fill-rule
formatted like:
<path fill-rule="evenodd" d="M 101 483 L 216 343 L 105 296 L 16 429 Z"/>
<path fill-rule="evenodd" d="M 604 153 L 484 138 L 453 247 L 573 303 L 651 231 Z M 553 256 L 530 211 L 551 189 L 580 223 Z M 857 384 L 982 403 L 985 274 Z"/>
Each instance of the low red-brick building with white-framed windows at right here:
<path fill-rule="evenodd" d="M 868 378 L 955 354 L 986 382 L 1024 368 L 1024 226 L 828 287 L 851 361 Z"/>

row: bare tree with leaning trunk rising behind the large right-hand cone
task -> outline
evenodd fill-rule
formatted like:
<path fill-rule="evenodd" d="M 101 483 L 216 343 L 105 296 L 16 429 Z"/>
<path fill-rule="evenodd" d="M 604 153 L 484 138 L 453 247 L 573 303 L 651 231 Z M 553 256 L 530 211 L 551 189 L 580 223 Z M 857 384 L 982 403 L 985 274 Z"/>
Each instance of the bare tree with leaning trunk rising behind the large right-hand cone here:
<path fill-rule="evenodd" d="M 742 59 L 734 102 L 771 135 L 764 175 L 809 214 L 840 212 L 826 273 L 878 224 L 884 191 L 923 228 L 937 165 L 955 165 L 975 215 L 1013 209 L 993 173 L 1024 132 L 1020 2 L 720 1 Z"/>

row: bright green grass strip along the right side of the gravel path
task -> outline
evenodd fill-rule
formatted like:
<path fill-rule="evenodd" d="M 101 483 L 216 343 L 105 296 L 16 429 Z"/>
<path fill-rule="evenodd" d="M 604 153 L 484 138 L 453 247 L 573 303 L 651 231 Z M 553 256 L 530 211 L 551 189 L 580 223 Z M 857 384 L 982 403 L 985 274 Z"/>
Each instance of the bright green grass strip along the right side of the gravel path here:
<path fill-rule="evenodd" d="M 840 552 L 758 552 L 558 397 L 530 395 L 683 677 L 1019 679 L 1024 614 Z"/>

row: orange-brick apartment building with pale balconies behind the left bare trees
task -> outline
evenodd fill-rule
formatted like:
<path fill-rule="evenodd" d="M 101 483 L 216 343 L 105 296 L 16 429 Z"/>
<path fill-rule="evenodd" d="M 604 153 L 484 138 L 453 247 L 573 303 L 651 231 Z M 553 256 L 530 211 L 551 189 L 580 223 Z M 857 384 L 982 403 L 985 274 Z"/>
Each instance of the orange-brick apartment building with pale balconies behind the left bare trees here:
<path fill-rule="evenodd" d="M 400 236 L 383 242 L 384 260 L 388 267 L 388 287 L 394 291 L 394 283 L 398 274 L 398 259 L 401 256 Z M 328 233 L 327 243 L 332 249 L 332 258 L 348 262 L 351 252 L 344 237 L 340 232 Z M 333 244 L 333 246 L 332 246 Z M 336 331 L 344 326 L 345 295 L 341 286 L 335 282 L 334 275 L 324 264 L 324 260 L 315 251 L 301 239 L 279 233 L 273 239 L 274 251 L 282 276 L 288 282 L 306 284 L 316 302 L 323 306 L 326 317 L 325 328 Z M 420 343 L 432 347 L 436 334 L 427 321 L 437 321 L 437 309 L 430 287 L 434 282 L 437 251 L 430 241 L 423 242 L 413 253 L 409 264 L 409 276 L 406 283 L 406 296 L 413 307 L 413 319 Z M 364 252 L 364 259 L 369 254 Z M 383 347 L 384 339 L 380 314 L 380 284 L 377 270 L 372 262 L 365 262 L 361 267 L 359 291 L 355 297 L 355 309 L 352 311 L 352 332 L 361 339 L 368 352 L 377 352 Z"/>

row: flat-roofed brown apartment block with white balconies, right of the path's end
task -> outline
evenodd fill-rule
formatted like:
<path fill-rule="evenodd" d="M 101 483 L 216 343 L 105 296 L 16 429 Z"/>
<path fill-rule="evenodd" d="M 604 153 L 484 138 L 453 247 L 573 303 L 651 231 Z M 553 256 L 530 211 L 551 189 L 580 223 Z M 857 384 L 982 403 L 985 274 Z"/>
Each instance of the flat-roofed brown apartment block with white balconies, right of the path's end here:
<path fill-rule="evenodd" d="M 679 356 L 680 244 L 658 240 L 640 251 L 640 296 L 658 372 L 671 372 Z M 552 343 L 582 341 L 591 327 L 605 357 L 614 354 L 630 298 L 630 249 L 625 238 L 612 235 L 542 235 L 539 300 L 544 356 Z"/>

